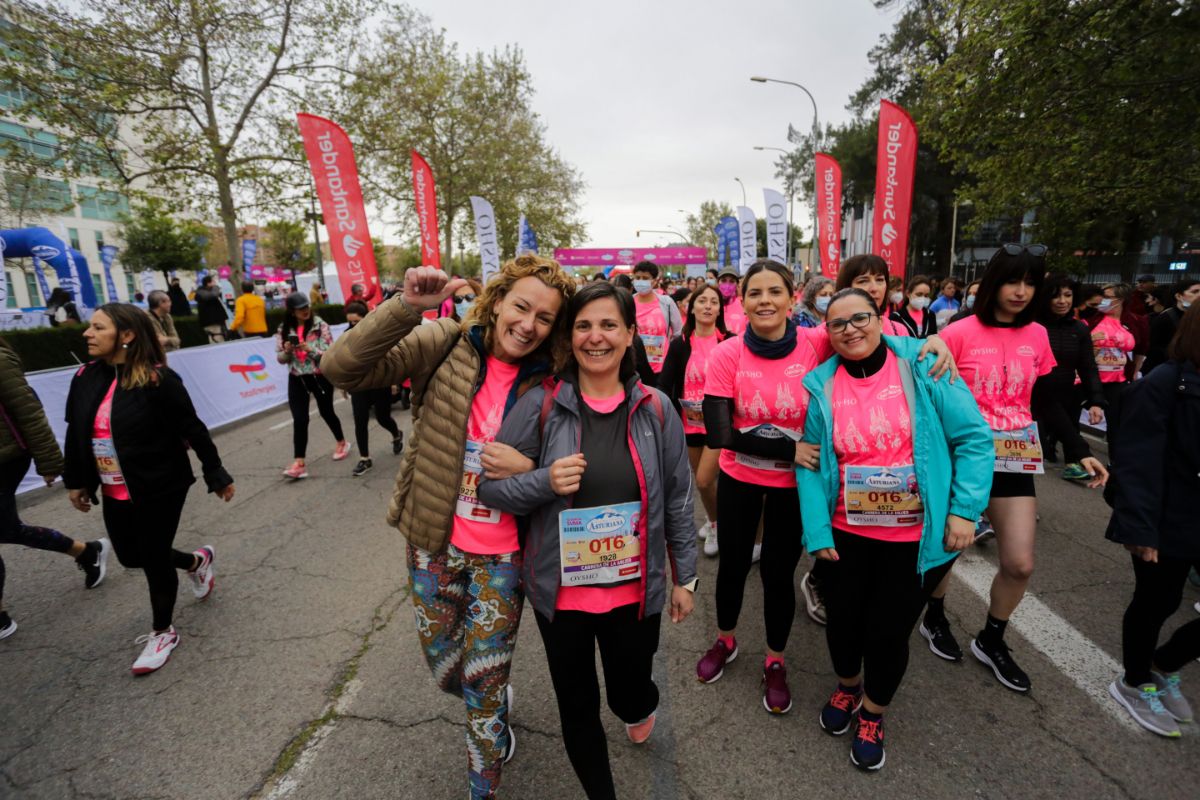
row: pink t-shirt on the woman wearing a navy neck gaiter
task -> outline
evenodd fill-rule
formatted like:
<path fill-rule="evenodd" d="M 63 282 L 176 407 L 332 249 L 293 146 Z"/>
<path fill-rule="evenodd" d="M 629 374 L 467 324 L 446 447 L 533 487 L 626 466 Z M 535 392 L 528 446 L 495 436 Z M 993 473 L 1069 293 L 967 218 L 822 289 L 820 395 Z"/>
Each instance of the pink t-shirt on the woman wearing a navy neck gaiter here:
<path fill-rule="evenodd" d="M 762 426 L 772 438 L 787 435 L 799 441 L 809 410 L 809 393 L 800 381 L 818 363 L 811 339 L 800 331 L 797 331 L 796 349 L 782 359 L 758 357 L 746 348 L 740 336 L 728 338 L 718 344 L 708 357 L 704 393 L 733 398 L 734 428 L 742 431 Z M 793 459 L 770 462 L 721 450 L 719 463 L 730 477 L 745 483 L 782 488 L 796 486 Z"/>

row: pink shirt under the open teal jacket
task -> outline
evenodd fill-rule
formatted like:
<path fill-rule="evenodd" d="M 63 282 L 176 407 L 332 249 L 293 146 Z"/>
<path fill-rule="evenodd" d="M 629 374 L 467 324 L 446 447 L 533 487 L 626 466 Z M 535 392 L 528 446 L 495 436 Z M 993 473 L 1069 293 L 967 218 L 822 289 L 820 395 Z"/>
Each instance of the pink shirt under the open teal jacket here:
<path fill-rule="evenodd" d="M 852 378 L 846 367 L 833 377 L 833 450 L 838 456 L 839 491 L 833 527 L 888 542 L 918 542 L 923 522 L 911 525 L 860 525 L 846 518 L 847 467 L 912 467 L 912 415 L 900 383 L 900 367 L 890 350 L 883 368 L 868 378 Z M 899 487 L 901 491 L 916 489 Z"/>

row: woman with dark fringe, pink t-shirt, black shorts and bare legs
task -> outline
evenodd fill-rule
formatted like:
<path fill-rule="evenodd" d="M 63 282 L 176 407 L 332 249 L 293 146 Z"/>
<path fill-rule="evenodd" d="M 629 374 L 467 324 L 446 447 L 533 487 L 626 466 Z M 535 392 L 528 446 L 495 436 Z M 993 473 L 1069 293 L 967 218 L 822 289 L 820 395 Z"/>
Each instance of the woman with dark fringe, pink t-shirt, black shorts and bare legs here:
<path fill-rule="evenodd" d="M 996 251 L 980 281 L 974 314 L 942 331 L 992 431 L 996 450 L 988 518 L 1000 546 L 1000 571 L 991 584 L 986 622 L 971 642 L 971 652 L 991 668 L 996 680 L 1015 692 L 1030 691 L 1030 679 L 1013 660 L 1003 637 L 1033 573 L 1033 475 L 1043 470 L 1031 398 L 1033 384 L 1055 366 L 1046 330 L 1033 321 L 1033 300 L 1045 278 L 1045 249 L 1043 245 L 1006 245 Z M 1082 459 L 1081 465 L 1094 476 L 1088 486 L 1094 488 L 1108 480 L 1094 458 Z M 922 633 L 935 654 L 958 661 L 961 650 L 943 608 L 947 584 L 948 577 L 934 591 Z"/>

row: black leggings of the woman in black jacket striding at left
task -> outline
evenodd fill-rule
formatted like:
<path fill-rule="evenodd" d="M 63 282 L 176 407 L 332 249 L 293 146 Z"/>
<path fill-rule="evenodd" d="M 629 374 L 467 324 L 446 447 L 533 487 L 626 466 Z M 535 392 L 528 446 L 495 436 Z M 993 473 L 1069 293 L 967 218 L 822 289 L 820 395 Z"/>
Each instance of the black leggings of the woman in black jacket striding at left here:
<path fill-rule="evenodd" d="M 152 495 L 146 500 L 113 500 L 104 498 L 104 529 L 113 542 L 121 566 L 146 573 L 150 585 L 150 608 L 154 630 L 170 627 L 179 593 L 176 570 L 191 570 L 196 557 L 172 547 L 179 517 L 184 512 L 187 489 Z"/>

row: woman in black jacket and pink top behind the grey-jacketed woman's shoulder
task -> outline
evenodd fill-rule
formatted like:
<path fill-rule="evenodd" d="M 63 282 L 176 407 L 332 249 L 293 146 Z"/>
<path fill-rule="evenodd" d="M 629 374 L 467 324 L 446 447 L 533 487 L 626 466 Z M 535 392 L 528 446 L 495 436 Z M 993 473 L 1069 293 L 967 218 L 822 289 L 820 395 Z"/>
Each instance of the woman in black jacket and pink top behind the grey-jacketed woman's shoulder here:
<path fill-rule="evenodd" d="M 704 380 L 708 375 L 708 359 L 713 349 L 727 336 L 725 327 L 724 299 L 715 287 L 703 285 L 688 297 L 688 320 L 683 332 L 671 341 L 659 389 L 671 398 L 683 415 L 683 432 L 688 437 L 688 459 L 692 474 L 700 467 L 704 453 Z M 712 452 L 712 451 L 710 451 Z M 715 457 L 715 452 L 712 452 Z M 716 485 L 701 483 L 697 489 L 708 522 L 700 530 L 704 540 L 704 554 L 716 555 Z"/>

